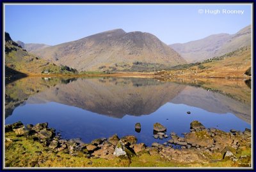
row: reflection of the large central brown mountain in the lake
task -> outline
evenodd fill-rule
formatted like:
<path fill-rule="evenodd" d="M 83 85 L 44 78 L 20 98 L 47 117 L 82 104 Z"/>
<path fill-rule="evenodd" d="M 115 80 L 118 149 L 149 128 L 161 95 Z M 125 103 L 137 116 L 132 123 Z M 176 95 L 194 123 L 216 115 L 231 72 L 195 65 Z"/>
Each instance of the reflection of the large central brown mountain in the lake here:
<path fill-rule="evenodd" d="M 104 81 L 104 82 L 102 82 Z M 63 82 L 62 82 L 63 83 Z M 29 97 L 27 103 L 57 102 L 102 115 L 147 115 L 177 96 L 186 86 L 140 78 L 92 78 L 56 85 Z"/>

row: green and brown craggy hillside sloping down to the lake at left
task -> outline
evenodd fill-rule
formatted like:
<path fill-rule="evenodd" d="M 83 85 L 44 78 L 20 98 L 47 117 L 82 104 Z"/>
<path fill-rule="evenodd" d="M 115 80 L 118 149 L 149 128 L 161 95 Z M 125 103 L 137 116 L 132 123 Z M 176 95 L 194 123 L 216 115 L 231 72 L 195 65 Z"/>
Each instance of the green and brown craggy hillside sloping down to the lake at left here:
<path fill-rule="evenodd" d="M 70 73 L 52 62 L 30 54 L 15 43 L 7 32 L 5 32 L 4 52 L 6 76 Z"/>

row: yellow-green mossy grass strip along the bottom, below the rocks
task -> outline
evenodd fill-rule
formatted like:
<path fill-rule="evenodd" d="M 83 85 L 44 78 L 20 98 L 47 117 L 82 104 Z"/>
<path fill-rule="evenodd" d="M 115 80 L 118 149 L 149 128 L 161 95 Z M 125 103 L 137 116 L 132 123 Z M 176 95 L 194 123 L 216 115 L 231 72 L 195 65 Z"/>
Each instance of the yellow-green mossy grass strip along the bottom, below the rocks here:
<path fill-rule="evenodd" d="M 150 155 L 147 151 L 141 152 L 139 155 L 132 155 L 131 157 L 115 157 L 114 159 L 102 159 L 86 157 L 86 154 L 80 152 L 76 157 L 71 156 L 65 152 L 54 152 L 47 147 L 43 147 L 41 143 L 33 141 L 32 138 L 24 136 L 17 137 L 14 132 L 5 133 L 5 138 L 12 141 L 5 141 L 4 164 L 5 167 L 141 167 L 141 168 L 191 168 L 191 167 L 236 167 L 238 162 L 230 160 L 220 160 L 223 155 L 220 153 L 212 154 L 210 161 L 202 163 L 181 163 L 175 161 L 168 161 L 161 158 L 159 155 Z M 248 155 L 244 159 L 244 163 L 251 161 L 251 149 L 244 148 L 241 152 L 236 154 Z M 211 161 L 211 159 L 213 161 Z M 214 161 L 220 160 L 220 161 Z"/>

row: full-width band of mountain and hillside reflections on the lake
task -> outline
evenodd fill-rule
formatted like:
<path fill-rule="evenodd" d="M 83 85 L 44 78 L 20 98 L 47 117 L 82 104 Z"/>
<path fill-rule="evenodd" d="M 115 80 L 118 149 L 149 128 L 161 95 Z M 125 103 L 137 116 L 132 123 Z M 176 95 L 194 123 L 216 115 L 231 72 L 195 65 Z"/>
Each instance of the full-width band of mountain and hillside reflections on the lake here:
<path fill-rule="evenodd" d="M 232 88 L 233 92 L 228 91 Z M 233 113 L 250 123 L 250 95 L 250 88 L 243 80 L 211 80 L 195 84 L 152 78 L 28 77 L 6 84 L 5 117 L 25 103 L 57 102 L 122 118 L 124 115 L 148 115 L 170 102 L 214 113 Z"/>

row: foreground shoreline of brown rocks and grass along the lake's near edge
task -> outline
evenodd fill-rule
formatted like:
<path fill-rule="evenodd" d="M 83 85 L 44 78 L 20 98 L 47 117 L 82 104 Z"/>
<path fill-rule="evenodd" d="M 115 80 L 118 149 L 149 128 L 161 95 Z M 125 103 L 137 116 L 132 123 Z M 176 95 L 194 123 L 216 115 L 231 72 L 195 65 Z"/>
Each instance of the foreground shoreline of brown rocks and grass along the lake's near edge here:
<path fill-rule="evenodd" d="M 140 127 L 139 124 L 136 124 L 136 129 L 140 129 Z M 231 129 L 230 132 L 226 133 L 215 128 L 206 129 L 200 122 L 193 121 L 190 124 L 190 133 L 183 133 L 184 137 L 179 137 L 173 132 L 167 134 L 166 127 L 159 123 L 154 124 L 154 132 L 156 132 L 154 138 L 170 137 L 170 140 L 163 144 L 155 142 L 151 146 L 147 146 L 144 143 L 137 143 L 135 136 L 118 138 L 114 134 L 110 138 L 99 138 L 91 143 L 83 143 L 80 139 L 62 139 L 60 134 L 55 133 L 55 129 L 48 127 L 47 123 L 25 126 L 22 122 L 16 122 L 5 125 L 4 143 L 7 152 L 5 165 L 6 167 L 21 166 L 16 163 L 20 161 L 20 155 L 16 155 L 16 159 L 13 160 L 15 155 L 12 154 L 15 153 L 11 151 L 20 147 L 24 150 L 22 154 L 35 155 L 36 160 L 33 163 L 28 158 L 24 164 L 24 166 L 33 167 L 55 166 L 54 164 L 47 164 L 49 155 L 52 156 L 52 159 L 58 158 L 60 162 L 69 161 L 72 157 L 79 158 L 79 161 L 89 161 L 90 163 L 83 165 L 84 167 L 93 166 L 95 159 L 98 159 L 97 163 L 99 160 L 104 162 L 117 161 L 120 163 L 118 166 L 154 167 L 175 166 L 175 164 L 177 166 L 252 166 L 250 129 L 245 129 L 243 132 Z M 20 143 L 17 145 L 18 142 Z M 32 147 L 35 143 L 38 146 L 32 149 L 24 145 L 25 142 L 31 144 Z M 150 157 L 152 162 L 148 160 Z M 154 160 L 155 158 L 158 159 L 157 161 L 161 161 L 161 164 Z M 122 161 L 127 164 L 122 164 Z M 72 164 L 68 166 L 72 166 Z M 111 163 L 100 165 L 99 163 L 99 166 L 115 165 Z"/>

